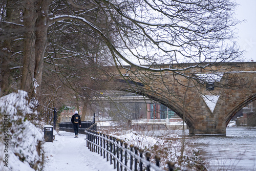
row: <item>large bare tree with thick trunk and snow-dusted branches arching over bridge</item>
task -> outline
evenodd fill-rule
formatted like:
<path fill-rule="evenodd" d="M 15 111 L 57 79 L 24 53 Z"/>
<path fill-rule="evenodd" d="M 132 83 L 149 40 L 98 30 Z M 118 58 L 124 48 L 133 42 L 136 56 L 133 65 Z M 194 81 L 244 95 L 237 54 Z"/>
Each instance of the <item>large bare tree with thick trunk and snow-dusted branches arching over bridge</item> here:
<path fill-rule="evenodd" d="M 116 65 L 126 62 L 147 71 L 159 71 L 150 66 L 164 62 L 170 67 L 161 71 L 179 74 L 180 69 L 172 68 L 172 63 L 195 61 L 196 65 L 191 67 L 204 69 L 240 55 L 235 43 L 225 45 L 234 38 L 232 26 L 237 24 L 232 17 L 236 4 L 229 1 L 27 0 L 13 2 L 14 9 L 10 8 L 13 4 L 7 2 L 1 3 L 1 27 L 16 26 L 22 30 L 18 36 L 22 38 L 23 50 L 12 53 L 22 54 L 19 87 L 31 95 L 34 81 L 41 83 L 47 31 L 54 23 L 59 26 L 56 32 L 69 25 L 86 29 L 92 39 L 104 42 Z M 11 22 L 8 11 L 12 14 Z M 77 22 L 82 25 L 77 25 Z M 10 42 L 15 38 L 11 36 L 2 40 Z M 4 45 L 8 46 L 8 43 Z M 61 43 L 58 46 L 61 48 Z M 199 53 L 202 54 L 201 62 Z M 8 57 L 8 53 L 2 54 Z M 136 61 L 150 66 L 138 66 Z"/>

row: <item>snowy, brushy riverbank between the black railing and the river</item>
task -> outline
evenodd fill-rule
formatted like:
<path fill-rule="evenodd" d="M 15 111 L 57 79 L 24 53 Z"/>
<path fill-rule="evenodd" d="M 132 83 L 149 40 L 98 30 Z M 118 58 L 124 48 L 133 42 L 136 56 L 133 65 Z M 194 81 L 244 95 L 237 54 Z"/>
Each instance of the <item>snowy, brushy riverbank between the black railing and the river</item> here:
<path fill-rule="evenodd" d="M 163 132 L 163 131 L 162 131 Z M 151 162 L 155 162 L 155 156 L 159 156 L 160 167 L 167 169 L 167 162 L 175 162 L 175 169 L 182 170 L 189 168 L 190 170 L 198 170 L 197 167 L 204 167 L 203 161 L 200 159 L 199 151 L 196 148 L 191 148 L 188 145 L 182 147 L 182 138 L 177 134 L 172 134 L 172 131 L 165 131 L 165 136 L 158 135 L 156 137 L 148 136 L 143 132 L 131 131 L 130 133 L 119 135 L 112 133 L 111 136 L 124 140 L 129 145 L 133 144 L 139 148 L 143 148 L 144 152 L 151 153 Z M 168 134 L 169 133 L 169 134 Z M 182 148 L 184 151 L 182 152 Z"/>

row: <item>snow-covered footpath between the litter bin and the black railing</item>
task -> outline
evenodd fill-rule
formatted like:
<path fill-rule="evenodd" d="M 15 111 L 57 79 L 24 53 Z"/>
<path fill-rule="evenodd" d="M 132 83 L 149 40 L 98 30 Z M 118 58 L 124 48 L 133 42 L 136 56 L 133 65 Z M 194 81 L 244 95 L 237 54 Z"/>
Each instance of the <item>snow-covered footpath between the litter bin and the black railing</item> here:
<path fill-rule="evenodd" d="M 43 171 L 112 171 L 113 164 L 106 162 L 103 156 L 92 153 L 86 146 L 86 135 L 60 131 L 53 142 L 44 144 L 45 165 Z"/>

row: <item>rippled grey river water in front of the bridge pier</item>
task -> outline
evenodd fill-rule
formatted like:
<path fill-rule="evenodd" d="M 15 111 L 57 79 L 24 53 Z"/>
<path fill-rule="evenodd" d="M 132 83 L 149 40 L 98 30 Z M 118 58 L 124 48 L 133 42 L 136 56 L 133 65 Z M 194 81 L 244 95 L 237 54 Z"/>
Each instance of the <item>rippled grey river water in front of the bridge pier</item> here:
<path fill-rule="evenodd" d="M 208 170 L 256 170 L 256 127 L 228 127 L 226 136 L 194 136 Z"/>

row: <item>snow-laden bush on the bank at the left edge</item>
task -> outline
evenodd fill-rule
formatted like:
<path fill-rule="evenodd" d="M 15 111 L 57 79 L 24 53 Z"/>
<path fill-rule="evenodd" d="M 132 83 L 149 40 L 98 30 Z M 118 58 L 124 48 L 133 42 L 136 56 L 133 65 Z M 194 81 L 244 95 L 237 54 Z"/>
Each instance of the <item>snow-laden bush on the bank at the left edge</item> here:
<path fill-rule="evenodd" d="M 28 101 L 24 91 L 0 98 L 0 170 L 34 171 L 42 168 L 44 137 L 36 123 L 28 120 L 33 121 L 32 118 L 36 117 L 36 105 L 36 100 Z"/>

